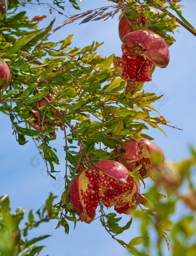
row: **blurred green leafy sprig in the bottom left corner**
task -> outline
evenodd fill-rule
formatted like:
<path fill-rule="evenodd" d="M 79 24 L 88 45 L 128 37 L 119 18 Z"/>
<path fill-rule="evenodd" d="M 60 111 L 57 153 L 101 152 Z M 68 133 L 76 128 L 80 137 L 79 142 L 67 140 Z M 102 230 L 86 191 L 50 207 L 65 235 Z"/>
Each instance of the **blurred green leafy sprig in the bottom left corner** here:
<path fill-rule="evenodd" d="M 36 246 L 36 243 L 48 238 L 50 235 L 40 235 L 37 238 L 27 239 L 28 232 L 32 228 L 38 227 L 42 222 L 48 222 L 58 218 L 58 211 L 52 209 L 52 203 L 55 196 L 50 194 L 46 205 L 37 210 L 35 214 L 30 210 L 28 220 L 25 222 L 25 228 L 21 227 L 21 221 L 24 221 L 24 207 L 18 207 L 16 212 L 10 213 L 9 196 L 4 195 L 0 198 L 0 255 L 37 255 L 44 246 Z"/>

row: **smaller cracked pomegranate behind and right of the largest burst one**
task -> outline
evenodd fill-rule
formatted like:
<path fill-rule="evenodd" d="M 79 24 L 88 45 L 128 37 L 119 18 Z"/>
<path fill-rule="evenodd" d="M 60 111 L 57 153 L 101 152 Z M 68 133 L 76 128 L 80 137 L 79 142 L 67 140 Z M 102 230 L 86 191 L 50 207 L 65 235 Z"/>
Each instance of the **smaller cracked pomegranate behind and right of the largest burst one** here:
<path fill-rule="evenodd" d="M 119 147 L 119 158 L 118 161 L 125 164 L 127 168 L 133 171 L 137 166 L 142 165 L 139 173 L 142 178 L 149 176 L 150 170 L 156 167 L 161 172 L 163 166 L 160 162 L 164 162 L 163 151 L 149 139 L 140 138 L 136 140 L 127 140 Z M 157 164 L 154 162 L 154 154 L 159 154 L 160 162 Z"/>

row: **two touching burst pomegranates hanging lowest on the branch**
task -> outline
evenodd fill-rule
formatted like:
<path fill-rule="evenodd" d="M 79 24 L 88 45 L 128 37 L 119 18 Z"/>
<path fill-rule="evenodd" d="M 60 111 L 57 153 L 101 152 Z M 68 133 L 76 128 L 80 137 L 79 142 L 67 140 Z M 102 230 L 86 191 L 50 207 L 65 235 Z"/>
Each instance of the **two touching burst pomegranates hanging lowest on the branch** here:
<path fill-rule="evenodd" d="M 70 202 L 81 221 L 91 223 L 100 202 L 106 207 L 114 206 L 118 213 L 130 214 L 138 204 L 145 203 L 131 173 L 140 166 L 139 173 L 144 179 L 151 170 L 161 172 L 163 169 L 160 162 L 164 162 L 164 154 L 151 140 L 127 140 L 114 151 L 119 155 L 118 161 L 96 162 L 91 168 L 81 170 L 70 185 Z"/>

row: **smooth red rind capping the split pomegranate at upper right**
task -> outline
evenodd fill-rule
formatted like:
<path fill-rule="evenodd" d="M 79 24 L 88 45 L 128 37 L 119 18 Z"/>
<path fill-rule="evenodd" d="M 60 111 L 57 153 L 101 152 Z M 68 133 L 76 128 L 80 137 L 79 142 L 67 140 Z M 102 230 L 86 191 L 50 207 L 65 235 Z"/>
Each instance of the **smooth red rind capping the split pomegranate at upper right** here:
<path fill-rule="evenodd" d="M 129 44 L 129 46 L 133 46 L 135 42 L 142 46 L 146 58 L 156 66 L 166 68 L 169 64 L 169 49 L 162 36 L 152 31 L 141 29 L 130 32 L 123 38 L 123 43 Z"/>

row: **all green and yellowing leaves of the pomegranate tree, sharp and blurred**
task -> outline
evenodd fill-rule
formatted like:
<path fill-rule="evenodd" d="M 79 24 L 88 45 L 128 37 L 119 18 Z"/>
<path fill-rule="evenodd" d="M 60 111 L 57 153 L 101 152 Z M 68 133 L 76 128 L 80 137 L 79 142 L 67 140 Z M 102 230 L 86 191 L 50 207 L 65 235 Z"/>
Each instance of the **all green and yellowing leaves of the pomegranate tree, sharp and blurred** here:
<path fill-rule="evenodd" d="M 40 4 L 38 0 L 35 2 Z M 60 12 L 65 2 L 55 0 L 54 6 Z M 79 9 L 77 1 L 70 0 L 69 2 L 75 9 Z M 175 41 L 168 33 L 174 32 L 178 27 L 176 18 L 169 16 L 164 9 L 172 8 L 180 14 L 180 5 L 177 1 L 170 4 L 162 0 L 146 0 L 142 1 L 142 5 L 140 1 L 112 2 L 118 3 L 122 12 L 129 11 L 128 15 L 131 18 L 138 15 L 134 11 L 135 9 L 144 9 L 145 16 L 150 19 L 150 25 L 146 22 L 145 27 L 135 27 L 135 29 L 149 29 L 151 26 L 164 37 L 168 46 Z M 149 6 L 155 6 L 163 10 L 163 13 L 153 14 L 150 12 Z M 27 236 L 29 229 L 37 227 L 43 221 L 56 218 L 59 212 L 61 214 L 56 228 L 63 226 L 65 233 L 69 233 L 69 221 L 74 221 L 75 224 L 78 221 L 73 206 L 70 204 L 69 185 L 80 171 L 81 164 L 88 168 L 101 159 L 116 159 L 116 155 L 110 152 L 116 147 L 116 144 L 121 144 L 126 139 L 137 140 L 140 137 L 152 139 L 146 134 L 149 126 L 164 133 L 160 125 L 169 124 L 151 106 L 151 103 L 159 100 L 161 96 L 145 93 L 142 90 L 143 84 L 137 85 L 133 95 L 125 94 L 126 83 L 118 77 L 112 65 L 114 55 L 104 58 L 97 53 L 97 48 L 101 43 L 93 42 L 83 49 L 72 47 L 73 35 L 69 35 L 60 42 L 49 42 L 46 38 L 54 21 L 51 21 L 46 29 L 37 29 L 37 23 L 42 18 L 29 21 L 25 16 L 25 11 L 18 12 L 17 7 L 18 1 L 13 0 L 8 6 L 9 15 L 6 12 L 0 12 L 0 57 L 1 62 L 7 62 L 12 72 L 9 88 L 1 90 L 0 110 L 10 116 L 13 132 L 20 145 L 27 143 L 29 137 L 33 137 L 37 141 L 39 149 L 43 151 L 47 172 L 51 179 L 55 179 L 52 174 L 57 172 L 55 166 L 59 164 L 59 159 L 56 149 L 50 146 L 50 142 L 56 139 L 56 129 L 61 128 L 65 133 L 63 146 L 66 175 L 65 192 L 62 194 L 61 201 L 52 208 L 55 197 L 50 195 L 43 212 L 37 212 L 39 220 L 34 221 L 32 211 L 29 212 L 26 228 L 22 230 L 18 225 L 23 218 L 24 209 L 18 208 L 15 213 L 10 214 L 8 196 L 3 196 L 0 201 L 0 232 L 4 241 L 0 243 L 1 255 L 34 255 L 43 248 L 35 247 L 34 243 L 47 236 L 40 236 L 30 241 L 22 240 L 21 237 Z M 81 17 L 77 16 L 77 18 L 86 16 L 83 22 L 100 18 L 105 20 L 114 14 L 111 12 L 105 15 L 106 10 L 93 10 Z M 77 18 L 72 16 L 70 22 Z M 186 23 L 186 20 L 184 22 Z M 189 26 L 189 24 L 187 25 Z M 52 95 L 53 92 L 55 92 L 55 97 L 50 101 L 47 95 Z M 46 104 L 40 106 L 37 103 L 40 100 Z M 37 120 L 38 130 L 33 129 L 31 125 L 33 121 Z M 95 150 L 94 147 L 97 145 L 100 146 L 100 149 Z M 180 162 L 178 165 L 168 165 L 167 168 L 168 170 L 175 169 L 180 180 L 188 181 L 191 191 L 193 191 L 193 184 L 189 178 L 196 162 L 195 151 L 192 151 L 191 159 Z M 91 161 L 89 161 L 88 154 L 91 155 Z M 161 176 L 159 179 L 163 179 L 163 177 Z M 138 172 L 134 172 L 134 180 L 140 181 L 140 179 L 141 176 Z M 167 237 L 167 231 L 171 227 L 169 218 L 174 213 L 176 203 L 181 199 L 187 203 L 186 196 L 179 194 L 180 186 L 183 187 L 182 182 L 176 187 L 172 187 L 173 191 L 171 192 L 167 187 L 168 184 L 164 183 L 166 181 L 157 180 L 157 177 L 153 179 L 155 183 L 146 194 L 148 204 L 134 214 L 134 217 L 139 218 L 141 222 L 141 236 L 131 239 L 129 243 L 116 239 L 116 235 L 131 227 L 132 218 L 124 227 L 120 227 L 118 222 L 121 217 L 119 218 L 115 213 L 106 214 L 103 205 L 100 205 L 100 221 L 103 227 L 112 238 L 134 255 L 150 255 L 146 251 L 152 244 L 149 241 L 149 229 L 152 227 L 157 232 L 157 250 L 161 255 L 161 238 L 164 238 L 167 244 L 169 243 Z M 144 183 L 143 180 L 140 182 Z M 164 195 L 167 196 L 167 199 L 164 199 L 165 196 L 161 194 L 163 187 L 165 187 Z M 190 203 L 187 205 L 190 206 Z M 188 250 L 191 254 L 194 250 L 195 244 L 192 243 L 190 246 L 189 243 L 191 237 L 194 236 L 191 231 L 193 221 L 194 217 L 187 215 L 172 227 L 171 240 L 174 241 L 172 242 L 174 252 Z M 184 227 L 184 223 L 186 223 L 186 227 Z M 175 235 L 176 232 L 183 233 L 186 244 L 183 244 L 183 240 Z M 140 247 L 141 250 L 137 250 L 135 246 L 141 243 L 143 248 Z M 22 252 L 26 254 L 22 254 Z"/>

